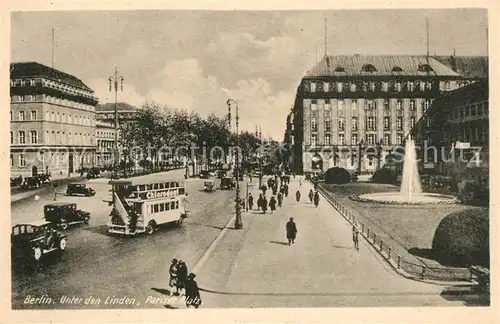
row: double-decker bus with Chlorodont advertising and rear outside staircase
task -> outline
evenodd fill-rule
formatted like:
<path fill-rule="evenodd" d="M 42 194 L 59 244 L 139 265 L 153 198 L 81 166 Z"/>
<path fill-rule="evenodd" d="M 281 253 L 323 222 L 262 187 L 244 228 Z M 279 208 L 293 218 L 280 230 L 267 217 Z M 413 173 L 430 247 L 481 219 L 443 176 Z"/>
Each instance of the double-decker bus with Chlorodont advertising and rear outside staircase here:
<path fill-rule="evenodd" d="M 108 232 L 153 234 L 166 223 L 181 225 L 188 215 L 184 181 L 111 180 L 113 209 Z"/>

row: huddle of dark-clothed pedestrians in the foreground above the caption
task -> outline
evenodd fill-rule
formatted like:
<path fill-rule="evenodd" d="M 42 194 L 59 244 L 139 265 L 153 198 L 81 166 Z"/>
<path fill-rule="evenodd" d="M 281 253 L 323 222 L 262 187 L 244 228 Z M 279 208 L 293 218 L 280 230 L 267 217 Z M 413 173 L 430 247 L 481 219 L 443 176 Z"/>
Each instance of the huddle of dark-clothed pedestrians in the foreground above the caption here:
<path fill-rule="evenodd" d="M 174 295 L 179 296 L 182 291 L 184 291 L 184 296 L 186 298 L 186 307 L 198 308 L 201 305 L 200 289 L 198 288 L 198 283 L 194 278 L 196 275 L 194 273 L 189 273 L 186 262 L 182 260 L 172 259 L 172 263 L 169 268 L 169 286 L 173 290 L 175 288 Z"/>

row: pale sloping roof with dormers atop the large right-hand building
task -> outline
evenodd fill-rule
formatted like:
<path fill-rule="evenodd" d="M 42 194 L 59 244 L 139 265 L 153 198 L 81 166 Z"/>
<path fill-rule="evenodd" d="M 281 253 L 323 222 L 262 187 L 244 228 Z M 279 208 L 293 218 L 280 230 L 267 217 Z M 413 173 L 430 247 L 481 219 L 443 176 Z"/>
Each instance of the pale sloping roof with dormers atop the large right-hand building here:
<path fill-rule="evenodd" d="M 430 67 L 430 69 L 428 69 Z M 370 68 L 374 68 L 370 72 Z M 460 76 L 425 55 L 325 56 L 306 74 L 316 76 Z"/>

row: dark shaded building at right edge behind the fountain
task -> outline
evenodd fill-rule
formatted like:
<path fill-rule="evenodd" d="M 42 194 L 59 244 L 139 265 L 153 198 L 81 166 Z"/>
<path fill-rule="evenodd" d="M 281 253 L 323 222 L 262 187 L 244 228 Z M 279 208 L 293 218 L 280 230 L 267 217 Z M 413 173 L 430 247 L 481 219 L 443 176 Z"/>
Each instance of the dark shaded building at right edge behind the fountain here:
<path fill-rule="evenodd" d="M 421 173 L 488 178 L 488 80 L 436 99 L 410 135 L 420 147 Z"/>

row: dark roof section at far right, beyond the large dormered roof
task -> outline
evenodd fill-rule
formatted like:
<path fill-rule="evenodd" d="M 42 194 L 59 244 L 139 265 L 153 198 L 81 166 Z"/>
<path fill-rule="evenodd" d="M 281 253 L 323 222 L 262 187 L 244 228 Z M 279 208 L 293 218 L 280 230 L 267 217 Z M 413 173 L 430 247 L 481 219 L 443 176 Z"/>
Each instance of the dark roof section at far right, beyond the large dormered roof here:
<path fill-rule="evenodd" d="M 437 61 L 462 75 L 464 78 L 488 78 L 488 56 L 435 56 Z"/>

